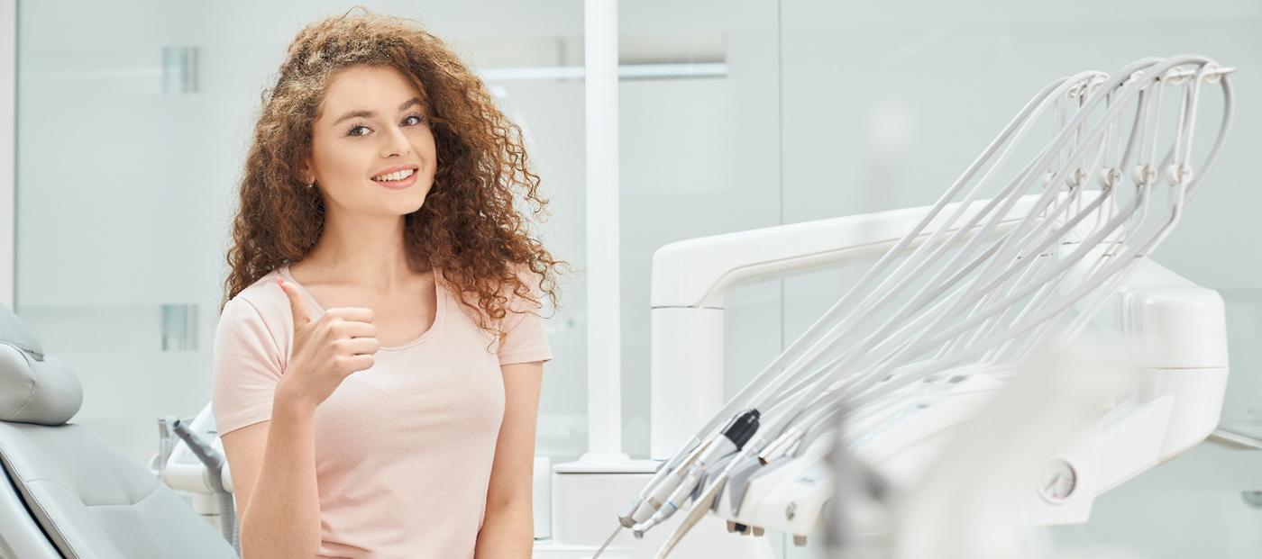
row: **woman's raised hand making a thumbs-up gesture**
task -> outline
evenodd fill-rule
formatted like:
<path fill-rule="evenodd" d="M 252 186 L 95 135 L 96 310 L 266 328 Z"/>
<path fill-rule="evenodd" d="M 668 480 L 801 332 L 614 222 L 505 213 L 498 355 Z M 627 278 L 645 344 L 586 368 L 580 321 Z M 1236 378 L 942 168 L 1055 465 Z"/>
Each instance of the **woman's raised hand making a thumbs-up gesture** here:
<path fill-rule="evenodd" d="M 298 288 L 280 277 L 276 283 L 289 297 L 294 317 L 294 347 L 289 355 L 276 398 L 314 409 L 352 373 L 369 369 L 380 349 L 372 310 L 329 308 L 312 319 Z"/>

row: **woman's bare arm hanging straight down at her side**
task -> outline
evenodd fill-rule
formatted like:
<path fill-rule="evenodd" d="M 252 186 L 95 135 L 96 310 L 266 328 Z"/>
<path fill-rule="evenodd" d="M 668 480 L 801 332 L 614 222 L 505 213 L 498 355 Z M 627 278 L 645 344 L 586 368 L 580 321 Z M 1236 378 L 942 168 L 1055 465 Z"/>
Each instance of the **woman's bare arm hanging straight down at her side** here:
<path fill-rule="evenodd" d="M 486 491 L 486 517 L 477 535 L 477 559 L 530 558 L 535 541 L 531 487 L 535 422 L 544 364 L 516 363 L 504 375 L 504 422 Z"/>

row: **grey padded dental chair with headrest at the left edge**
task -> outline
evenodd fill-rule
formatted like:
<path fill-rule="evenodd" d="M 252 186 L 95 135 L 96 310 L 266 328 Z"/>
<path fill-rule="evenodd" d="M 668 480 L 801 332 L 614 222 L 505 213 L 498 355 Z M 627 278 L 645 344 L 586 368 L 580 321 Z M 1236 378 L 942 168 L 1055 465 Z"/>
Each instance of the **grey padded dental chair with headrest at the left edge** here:
<path fill-rule="evenodd" d="M 0 559 L 236 558 L 144 466 L 67 423 L 83 392 L 0 305 Z"/>

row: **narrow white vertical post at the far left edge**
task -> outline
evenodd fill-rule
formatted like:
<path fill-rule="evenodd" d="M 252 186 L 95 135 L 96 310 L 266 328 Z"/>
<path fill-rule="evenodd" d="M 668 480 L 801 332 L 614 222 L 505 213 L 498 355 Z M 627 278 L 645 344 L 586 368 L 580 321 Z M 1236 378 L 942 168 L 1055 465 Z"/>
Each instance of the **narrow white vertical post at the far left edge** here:
<path fill-rule="evenodd" d="M 13 310 L 18 208 L 18 0 L 0 0 L 0 303 Z"/>

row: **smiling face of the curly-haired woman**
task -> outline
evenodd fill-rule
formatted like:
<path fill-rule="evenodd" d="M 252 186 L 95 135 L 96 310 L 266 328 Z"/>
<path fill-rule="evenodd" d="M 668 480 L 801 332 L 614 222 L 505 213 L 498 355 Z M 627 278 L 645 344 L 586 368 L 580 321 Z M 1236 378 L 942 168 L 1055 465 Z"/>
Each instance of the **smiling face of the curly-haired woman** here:
<path fill-rule="evenodd" d="M 307 172 L 328 212 L 413 213 L 434 183 L 435 162 L 428 110 L 399 71 L 355 67 L 337 74 L 312 126 Z M 413 174 L 374 180 L 399 169 Z"/>

